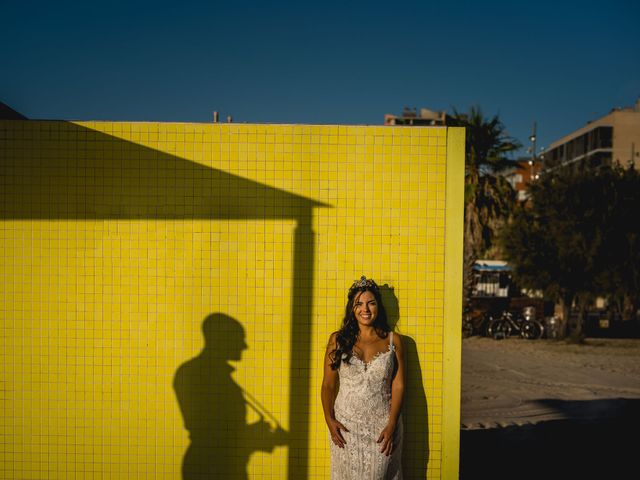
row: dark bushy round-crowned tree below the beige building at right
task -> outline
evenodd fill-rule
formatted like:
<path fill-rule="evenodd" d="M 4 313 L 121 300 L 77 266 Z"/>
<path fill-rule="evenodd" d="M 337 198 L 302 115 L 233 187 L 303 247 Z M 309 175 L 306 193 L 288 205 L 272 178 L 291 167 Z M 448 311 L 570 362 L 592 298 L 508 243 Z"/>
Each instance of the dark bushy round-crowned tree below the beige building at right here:
<path fill-rule="evenodd" d="M 626 299 L 637 310 L 640 235 L 631 217 L 640 207 L 637 179 L 635 171 L 608 166 L 547 172 L 530 186 L 530 204 L 501 232 L 518 284 L 562 303 L 563 336 L 583 336 L 595 296 Z M 574 304 L 581 315 L 570 326 Z"/>

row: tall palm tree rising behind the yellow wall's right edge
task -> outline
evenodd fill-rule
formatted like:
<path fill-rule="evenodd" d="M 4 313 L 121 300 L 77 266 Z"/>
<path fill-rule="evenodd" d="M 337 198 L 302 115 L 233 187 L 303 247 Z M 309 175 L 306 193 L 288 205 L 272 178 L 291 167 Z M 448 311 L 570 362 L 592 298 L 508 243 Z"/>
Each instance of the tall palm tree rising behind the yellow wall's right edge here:
<path fill-rule="evenodd" d="M 507 134 L 498 115 L 487 119 L 478 106 L 471 107 L 468 113 L 454 109 L 448 123 L 466 128 L 464 292 L 468 299 L 473 264 L 494 246 L 496 230 L 515 203 L 511 185 L 499 173 L 513 166 L 507 155 L 521 145 Z"/>

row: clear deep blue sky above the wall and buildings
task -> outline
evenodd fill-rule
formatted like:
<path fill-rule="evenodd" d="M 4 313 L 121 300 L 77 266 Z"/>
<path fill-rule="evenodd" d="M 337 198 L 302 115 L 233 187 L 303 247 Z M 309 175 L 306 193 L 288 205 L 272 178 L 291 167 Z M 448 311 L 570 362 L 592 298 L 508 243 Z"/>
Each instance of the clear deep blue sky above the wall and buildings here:
<path fill-rule="evenodd" d="M 499 114 L 538 146 L 640 97 L 640 2 L 0 0 L 30 118 L 382 124 Z M 523 152 L 524 153 L 524 152 Z"/>

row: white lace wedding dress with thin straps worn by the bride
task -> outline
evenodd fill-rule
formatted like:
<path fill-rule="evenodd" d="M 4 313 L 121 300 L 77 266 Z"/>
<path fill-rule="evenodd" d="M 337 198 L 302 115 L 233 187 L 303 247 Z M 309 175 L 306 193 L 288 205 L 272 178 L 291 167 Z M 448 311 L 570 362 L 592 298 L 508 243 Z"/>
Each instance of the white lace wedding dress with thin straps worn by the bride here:
<path fill-rule="evenodd" d="M 398 420 L 390 456 L 376 443 L 389 419 L 391 379 L 394 370 L 393 332 L 389 349 L 365 363 L 355 354 L 341 362 L 340 388 L 334 404 L 336 419 L 349 429 L 343 432 L 344 448 L 331 446 L 331 480 L 401 480 L 402 419 Z"/>

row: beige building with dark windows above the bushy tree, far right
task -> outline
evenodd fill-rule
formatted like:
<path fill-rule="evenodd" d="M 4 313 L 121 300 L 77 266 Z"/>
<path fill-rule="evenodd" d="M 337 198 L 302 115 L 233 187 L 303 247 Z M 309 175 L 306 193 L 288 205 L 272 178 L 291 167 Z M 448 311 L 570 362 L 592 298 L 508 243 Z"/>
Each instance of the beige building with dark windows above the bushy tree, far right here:
<path fill-rule="evenodd" d="M 544 154 L 545 168 L 566 165 L 599 167 L 631 163 L 640 169 L 640 99 L 633 107 L 614 108 L 553 142 Z"/>

